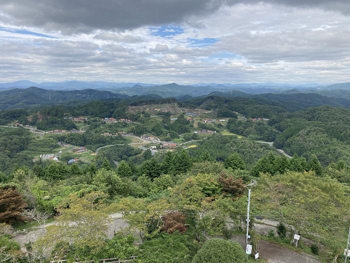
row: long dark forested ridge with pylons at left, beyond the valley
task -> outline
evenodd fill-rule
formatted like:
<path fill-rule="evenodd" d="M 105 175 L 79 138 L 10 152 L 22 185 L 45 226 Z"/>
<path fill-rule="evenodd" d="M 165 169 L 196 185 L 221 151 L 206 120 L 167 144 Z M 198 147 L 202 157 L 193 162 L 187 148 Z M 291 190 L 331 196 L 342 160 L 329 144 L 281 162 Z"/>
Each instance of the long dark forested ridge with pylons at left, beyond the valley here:
<path fill-rule="evenodd" d="M 0 92 L 0 110 L 24 108 L 32 105 L 59 104 L 81 100 L 124 99 L 127 95 L 93 89 L 57 91 L 37 87 L 12 89 Z"/>

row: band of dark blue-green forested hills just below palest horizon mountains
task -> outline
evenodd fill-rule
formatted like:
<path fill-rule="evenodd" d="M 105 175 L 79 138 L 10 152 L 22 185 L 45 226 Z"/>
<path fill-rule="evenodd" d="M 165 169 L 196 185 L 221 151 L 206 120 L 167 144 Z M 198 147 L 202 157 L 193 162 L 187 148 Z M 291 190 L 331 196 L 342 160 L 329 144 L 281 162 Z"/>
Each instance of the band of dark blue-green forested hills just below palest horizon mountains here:
<path fill-rule="evenodd" d="M 256 90 L 258 88 L 253 88 Z M 71 102 L 106 99 L 158 100 L 175 98 L 191 104 L 205 98 L 232 98 L 255 101 L 265 105 L 277 106 L 289 110 L 303 109 L 312 106 L 329 105 L 350 108 L 350 90 L 286 90 L 279 93 L 248 94 L 242 91 L 225 89 L 216 90 L 210 86 L 192 87 L 173 84 L 131 88 L 110 91 L 84 90 L 47 90 L 37 87 L 27 89 L 9 89 L 0 91 L 0 110 L 25 108 L 29 106 L 67 104 Z M 199 95 L 198 95 L 199 94 Z M 349 98 L 348 98 L 349 97 Z"/>

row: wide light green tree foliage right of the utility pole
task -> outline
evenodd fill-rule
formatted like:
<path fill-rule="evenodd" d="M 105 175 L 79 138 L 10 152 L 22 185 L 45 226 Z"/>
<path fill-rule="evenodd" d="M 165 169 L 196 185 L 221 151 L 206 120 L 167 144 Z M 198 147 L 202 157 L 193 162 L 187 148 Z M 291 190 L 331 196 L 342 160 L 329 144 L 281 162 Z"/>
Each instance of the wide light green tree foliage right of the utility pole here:
<path fill-rule="evenodd" d="M 262 175 L 252 191 L 251 204 L 255 213 L 274 215 L 273 220 L 280 218 L 301 235 L 308 233 L 334 251 L 345 238 L 342 229 L 348 227 L 348 187 L 330 177 L 313 172 Z"/>

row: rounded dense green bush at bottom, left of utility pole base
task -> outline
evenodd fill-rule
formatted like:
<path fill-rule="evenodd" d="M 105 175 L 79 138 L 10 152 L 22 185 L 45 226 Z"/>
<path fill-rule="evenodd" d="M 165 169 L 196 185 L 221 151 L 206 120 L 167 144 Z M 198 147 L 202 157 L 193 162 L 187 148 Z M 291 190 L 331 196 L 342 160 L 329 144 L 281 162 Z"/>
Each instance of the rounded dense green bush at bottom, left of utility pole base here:
<path fill-rule="evenodd" d="M 241 263 L 244 261 L 244 250 L 237 242 L 212 238 L 198 250 L 192 263 Z"/>

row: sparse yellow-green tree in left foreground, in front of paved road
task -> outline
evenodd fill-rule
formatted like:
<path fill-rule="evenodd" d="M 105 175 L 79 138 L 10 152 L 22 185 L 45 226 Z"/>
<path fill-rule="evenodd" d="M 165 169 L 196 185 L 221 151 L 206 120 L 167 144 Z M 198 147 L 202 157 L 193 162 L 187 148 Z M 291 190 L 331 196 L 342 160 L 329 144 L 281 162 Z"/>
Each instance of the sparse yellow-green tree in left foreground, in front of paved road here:
<path fill-rule="evenodd" d="M 46 227 L 46 233 L 34 246 L 43 253 L 52 249 L 57 242 L 72 243 L 75 247 L 72 258 L 89 258 L 104 249 L 107 215 L 100 211 L 103 207 L 99 200 L 101 194 L 90 193 L 82 198 L 70 196 L 67 207 L 58 207 L 60 215 L 57 223 Z M 74 223 L 72 223 L 74 222 Z"/>

